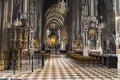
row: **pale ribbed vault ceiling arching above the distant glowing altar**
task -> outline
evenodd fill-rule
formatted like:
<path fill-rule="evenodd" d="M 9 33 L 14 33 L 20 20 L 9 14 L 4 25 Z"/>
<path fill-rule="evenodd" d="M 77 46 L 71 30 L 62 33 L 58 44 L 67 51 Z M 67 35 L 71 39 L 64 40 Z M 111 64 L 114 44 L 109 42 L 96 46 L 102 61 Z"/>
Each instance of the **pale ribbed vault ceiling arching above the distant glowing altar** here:
<path fill-rule="evenodd" d="M 60 3 L 54 4 L 51 8 L 47 10 L 45 14 L 46 28 L 52 28 L 52 24 L 54 24 L 55 27 L 60 28 L 63 27 L 64 22 L 64 13 L 60 11 Z"/>

